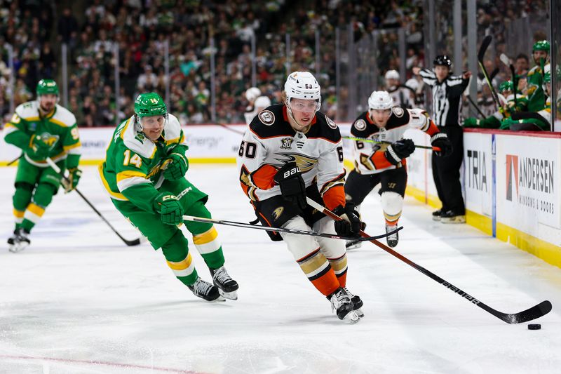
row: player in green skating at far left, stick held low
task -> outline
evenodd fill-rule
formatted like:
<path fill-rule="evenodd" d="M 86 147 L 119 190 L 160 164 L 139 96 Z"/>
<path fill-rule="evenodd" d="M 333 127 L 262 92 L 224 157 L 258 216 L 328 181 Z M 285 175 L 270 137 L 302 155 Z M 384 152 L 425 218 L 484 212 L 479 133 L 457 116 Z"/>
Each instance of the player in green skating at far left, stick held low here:
<path fill-rule="evenodd" d="M 62 182 L 66 192 L 76 188 L 81 175 L 76 117 L 57 104 L 55 81 L 41 79 L 36 94 L 37 100 L 15 108 L 4 130 L 4 140 L 22 149 L 13 195 L 15 230 L 8 239 L 11 252 L 29 245 L 29 233 L 58 192 L 61 177 L 48 166 L 47 157 L 53 159 L 62 172 L 68 168 L 69 182 Z"/>

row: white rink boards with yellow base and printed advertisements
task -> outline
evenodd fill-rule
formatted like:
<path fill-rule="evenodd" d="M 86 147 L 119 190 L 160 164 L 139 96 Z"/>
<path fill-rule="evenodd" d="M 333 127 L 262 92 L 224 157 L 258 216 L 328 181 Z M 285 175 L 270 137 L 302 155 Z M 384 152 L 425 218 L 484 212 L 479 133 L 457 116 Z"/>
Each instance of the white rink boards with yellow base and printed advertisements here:
<path fill-rule="evenodd" d="M 234 163 L 245 125 L 185 126 L 189 160 Z M 349 123 L 339 126 L 349 135 Z M 104 158 L 114 128 L 81 128 L 83 164 Z M 428 136 L 407 131 L 418 145 Z M 344 142 L 346 165 L 352 167 L 351 141 Z M 0 140 L 0 165 L 20 150 Z M 464 133 L 464 196 L 469 225 L 512 243 L 561 267 L 561 134 L 512 133 L 467 129 Z M 431 151 L 417 149 L 407 159 L 407 194 L 440 207 L 431 170 Z"/>

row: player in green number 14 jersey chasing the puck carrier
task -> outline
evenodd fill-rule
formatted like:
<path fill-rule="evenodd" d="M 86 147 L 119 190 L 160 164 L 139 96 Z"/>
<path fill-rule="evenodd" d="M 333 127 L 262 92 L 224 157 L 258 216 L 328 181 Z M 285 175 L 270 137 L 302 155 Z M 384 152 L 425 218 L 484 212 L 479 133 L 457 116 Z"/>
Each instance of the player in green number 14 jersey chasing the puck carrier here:
<path fill-rule="evenodd" d="M 100 176 L 114 206 L 155 250 L 162 248 L 177 279 L 204 300 L 236 300 L 238 283 L 224 268 L 215 227 L 183 222 L 184 214 L 210 218 L 208 195 L 185 179 L 188 148 L 179 121 L 168 114 L 160 95 L 142 93 L 135 100 L 135 114 L 116 128 Z M 214 285 L 198 276 L 182 223 L 193 234 Z"/>

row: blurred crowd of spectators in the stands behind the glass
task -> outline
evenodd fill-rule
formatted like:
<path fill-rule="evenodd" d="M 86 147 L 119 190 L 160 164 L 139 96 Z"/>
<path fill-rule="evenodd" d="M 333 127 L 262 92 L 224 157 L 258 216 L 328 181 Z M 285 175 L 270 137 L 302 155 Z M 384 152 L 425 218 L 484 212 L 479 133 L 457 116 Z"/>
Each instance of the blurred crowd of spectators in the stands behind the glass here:
<path fill-rule="evenodd" d="M 481 3 L 478 31 L 493 34 L 497 51 L 506 42 L 504 25 L 546 8 L 545 0 L 505 0 L 492 6 L 487 5 L 488 1 Z M 318 70 L 323 111 L 332 117 L 346 116 L 341 106 L 337 112 L 337 100 L 343 102 L 347 95 L 346 87 L 339 95 L 335 90 L 337 28 L 346 31 L 351 25 L 352 40 L 356 42 L 372 37 L 375 30 L 403 27 L 407 76 L 402 77 L 402 83 L 411 77 L 412 67 L 423 66 L 422 0 L 313 0 L 307 1 L 306 10 L 288 0 L 269 0 L 264 4 L 244 0 L 94 0 L 77 1 L 71 10 L 56 9 L 55 1 L 0 0 L 0 114 L 10 115 L 11 97 L 15 105 L 34 98 L 34 87 L 40 78 L 56 79 L 62 86 L 62 44 L 67 45 L 68 51 L 68 107 L 76 114 L 79 126 L 114 126 L 132 114 L 133 98 L 138 93 L 156 91 L 164 96 L 166 85 L 170 112 L 179 116 L 182 123 L 208 123 L 210 39 L 215 42 L 216 119 L 227 123 L 243 122 L 248 105 L 243 93 L 252 82 L 250 46 L 254 36 L 256 80 L 262 93 L 273 103 L 280 101 L 288 64 L 292 71 L 305 69 L 315 74 Z M 318 67 L 316 30 L 320 34 Z M 286 34 L 290 34 L 288 59 Z M 383 77 L 386 70 L 400 67 L 398 34 L 379 32 L 377 37 L 378 67 Z M 13 90 L 8 84 L 12 75 L 8 44 L 14 56 Z M 119 102 L 115 102 L 114 92 L 115 51 L 119 53 Z M 489 62 L 494 67 L 501 67 L 499 54 Z M 497 83 L 507 77 L 508 72 L 501 67 Z"/>

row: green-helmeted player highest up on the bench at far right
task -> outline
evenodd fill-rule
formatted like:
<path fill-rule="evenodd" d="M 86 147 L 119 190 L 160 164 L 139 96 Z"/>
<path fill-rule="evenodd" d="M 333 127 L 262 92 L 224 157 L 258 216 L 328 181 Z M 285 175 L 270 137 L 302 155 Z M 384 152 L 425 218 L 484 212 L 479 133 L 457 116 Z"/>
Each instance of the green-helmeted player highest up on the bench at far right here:
<path fill-rule="evenodd" d="M 549 63 L 549 41 L 537 41 L 532 47 L 532 58 L 536 66 L 528 72 L 526 96 L 528 98 L 528 112 L 539 112 L 544 107 L 546 97 L 543 94 L 543 66 Z"/>

